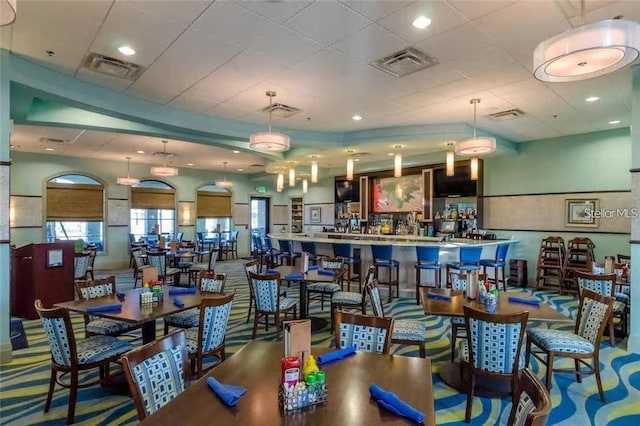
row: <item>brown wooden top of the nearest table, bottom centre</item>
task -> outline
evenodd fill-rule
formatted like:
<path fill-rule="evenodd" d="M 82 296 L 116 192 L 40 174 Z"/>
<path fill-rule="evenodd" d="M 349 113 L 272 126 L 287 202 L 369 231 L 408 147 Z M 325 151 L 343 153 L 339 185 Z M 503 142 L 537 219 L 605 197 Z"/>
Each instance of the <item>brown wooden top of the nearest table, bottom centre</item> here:
<path fill-rule="evenodd" d="M 319 355 L 330 348 L 313 347 Z M 425 414 L 424 424 L 435 425 L 431 360 L 398 355 L 358 352 L 349 358 L 320 366 L 326 372 L 327 402 L 315 408 L 283 414 L 278 405 L 280 359 L 284 345 L 251 341 L 236 354 L 191 384 L 142 424 L 205 425 L 215 419 L 221 425 L 409 425 L 369 396 L 375 383 L 395 392 L 400 399 Z M 208 387 L 206 377 L 221 383 L 246 387 L 247 393 L 235 407 L 227 407 Z"/>

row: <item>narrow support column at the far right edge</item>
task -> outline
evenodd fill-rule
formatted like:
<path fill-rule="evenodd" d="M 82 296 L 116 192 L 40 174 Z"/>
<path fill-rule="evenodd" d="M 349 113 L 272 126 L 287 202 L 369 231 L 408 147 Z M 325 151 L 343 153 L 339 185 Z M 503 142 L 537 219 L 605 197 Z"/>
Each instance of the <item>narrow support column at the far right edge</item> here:
<path fill-rule="evenodd" d="M 640 65 L 632 69 L 631 200 L 640 212 Z M 640 353 L 640 215 L 631 219 L 631 313 L 627 350 Z"/>

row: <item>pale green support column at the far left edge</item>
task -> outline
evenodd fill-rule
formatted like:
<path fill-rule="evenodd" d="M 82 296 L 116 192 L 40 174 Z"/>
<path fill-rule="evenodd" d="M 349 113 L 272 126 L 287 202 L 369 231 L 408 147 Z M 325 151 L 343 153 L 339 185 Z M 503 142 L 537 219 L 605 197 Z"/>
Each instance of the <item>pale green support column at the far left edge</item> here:
<path fill-rule="evenodd" d="M 9 200 L 11 194 L 11 157 L 9 136 L 9 54 L 0 51 L 0 363 L 11 361 L 10 325 L 10 236 Z"/>

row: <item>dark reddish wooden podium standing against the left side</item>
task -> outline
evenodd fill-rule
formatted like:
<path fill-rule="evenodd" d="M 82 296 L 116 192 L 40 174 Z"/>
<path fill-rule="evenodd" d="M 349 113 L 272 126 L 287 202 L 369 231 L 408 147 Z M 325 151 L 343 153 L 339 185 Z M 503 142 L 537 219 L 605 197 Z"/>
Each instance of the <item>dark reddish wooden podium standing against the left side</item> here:
<path fill-rule="evenodd" d="M 74 299 L 74 242 L 34 243 L 12 251 L 11 315 L 36 319 L 36 299 L 45 308 Z"/>

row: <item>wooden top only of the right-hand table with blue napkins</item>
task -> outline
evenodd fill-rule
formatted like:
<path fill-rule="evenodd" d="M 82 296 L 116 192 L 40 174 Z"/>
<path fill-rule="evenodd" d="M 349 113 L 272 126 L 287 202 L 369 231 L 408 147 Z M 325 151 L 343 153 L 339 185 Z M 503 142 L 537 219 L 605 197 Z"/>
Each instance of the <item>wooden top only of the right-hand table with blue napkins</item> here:
<path fill-rule="evenodd" d="M 449 301 L 429 298 L 427 297 L 427 294 L 429 292 L 449 295 L 451 296 L 451 300 Z M 498 293 L 498 304 L 496 306 L 495 312 L 496 314 L 511 315 L 517 312 L 528 311 L 529 320 L 552 322 L 574 321 L 572 318 L 561 314 L 544 302 L 541 302 L 539 306 L 528 305 L 525 303 L 509 302 L 509 296 L 517 296 L 523 299 L 535 299 L 534 296 L 526 293 L 501 291 Z M 463 317 L 464 312 L 462 307 L 464 305 L 481 311 L 486 310 L 487 306 L 478 302 L 478 300 L 467 299 L 461 291 L 451 289 L 434 289 L 429 287 L 421 287 L 420 298 L 422 300 L 422 306 L 424 307 L 424 313 L 429 315 Z"/>

